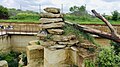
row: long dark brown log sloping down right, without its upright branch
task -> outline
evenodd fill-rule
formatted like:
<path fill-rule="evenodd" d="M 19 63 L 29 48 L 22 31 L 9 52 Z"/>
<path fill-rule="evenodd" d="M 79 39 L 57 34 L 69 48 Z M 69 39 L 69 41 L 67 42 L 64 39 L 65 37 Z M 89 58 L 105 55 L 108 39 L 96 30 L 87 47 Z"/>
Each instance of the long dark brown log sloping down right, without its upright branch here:
<path fill-rule="evenodd" d="M 103 38 L 106 38 L 106 39 L 109 39 L 109 40 L 113 40 L 117 43 L 120 43 L 120 38 L 113 37 L 112 34 L 102 32 L 100 30 L 92 29 L 92 28 L 89 28 L 89 27 L 85 27 L 85 26 L 82 26 L 82 25 L 79 25 L 79 24 L 73 24 L 73 23 L 70 23 L 70 22 L 65 22 L 65 23 L 73 26 L 74 28 L 76 28 L 80 31 L 84 31 L 84 32 L 87 32 L 87 33 L 90 33 L 90 34 L 98 35 L 100 37 L 103 37 Z"/>

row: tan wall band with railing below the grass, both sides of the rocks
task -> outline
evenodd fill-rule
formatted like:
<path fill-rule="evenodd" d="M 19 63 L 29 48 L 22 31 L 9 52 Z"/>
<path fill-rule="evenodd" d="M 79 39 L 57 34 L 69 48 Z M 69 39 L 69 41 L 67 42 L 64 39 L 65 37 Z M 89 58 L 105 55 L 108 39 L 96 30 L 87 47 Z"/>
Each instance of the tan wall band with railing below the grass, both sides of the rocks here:
<path fill-rule="evenodd" d="M 6 33 L 11 34 L 29 34 L 29 33 L 37 33 L 40 30 L 38 23 L 9 23 L 9 22 L 3 22 L 0 23 L 0 25 L 4 26 L 4 29 L 0 29 L 0 35 L 5 35 Z M 106 25 L 102 24 L 82 24 L 84 26 L 88 26 L 94 29 L 98 29 L 105 32 L 110 32 L 109 28 Z M 9 26 L 12 26 L 13 28 L 7 28 Z M 113 25 L 115 30 L 117 30 L 118 34 L 120 34 L 120 25 Z"/>

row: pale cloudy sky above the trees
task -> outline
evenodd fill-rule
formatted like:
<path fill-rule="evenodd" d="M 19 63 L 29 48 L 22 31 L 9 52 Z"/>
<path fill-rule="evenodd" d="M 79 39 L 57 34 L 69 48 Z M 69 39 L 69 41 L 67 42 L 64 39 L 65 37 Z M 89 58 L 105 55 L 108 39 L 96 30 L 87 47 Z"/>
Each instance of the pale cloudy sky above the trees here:
<path fill-rule="evenodd" d="M 103 14 L 111 14 L 114 10 L 120 12 L 120 0 L 0 0 L 0 5 L 7 8 L 16 8 L 22 10 L 43 11 L 46 7 L 61 8 L 63 4 L 63 12 L 69 12 L 72 6 L 86 5 L 86 9 L 91 13 L 92 9 Z"/>

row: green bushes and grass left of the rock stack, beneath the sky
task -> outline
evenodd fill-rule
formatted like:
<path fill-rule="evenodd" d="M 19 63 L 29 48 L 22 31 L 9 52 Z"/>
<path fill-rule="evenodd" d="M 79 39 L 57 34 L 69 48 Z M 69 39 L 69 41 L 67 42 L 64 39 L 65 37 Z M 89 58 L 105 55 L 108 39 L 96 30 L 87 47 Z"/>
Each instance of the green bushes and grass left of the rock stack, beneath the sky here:
<path fill-rule="evenodd" d="M 37 22 L 39 19 L 38 12 L 0 6 L 0 22 Z"/>

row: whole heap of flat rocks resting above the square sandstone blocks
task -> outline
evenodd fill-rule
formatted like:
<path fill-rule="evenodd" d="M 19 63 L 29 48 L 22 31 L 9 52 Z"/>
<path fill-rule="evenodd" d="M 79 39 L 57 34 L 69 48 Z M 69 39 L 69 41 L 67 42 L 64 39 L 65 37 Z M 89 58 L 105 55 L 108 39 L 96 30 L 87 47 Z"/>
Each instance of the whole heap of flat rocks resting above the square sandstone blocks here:
<path fill-rule="evenodd" d="M 47 13 L 41 14 L 38 37 L 42 40 L 42 45 L 48 48 L 65 48 L 79 43 L 75 35 L 64 36 L 63 27 L 65 25 L 63 14 L 58 8 L 45 8 Z M 48 39 L 48 40 L 46 40 Z"/>

